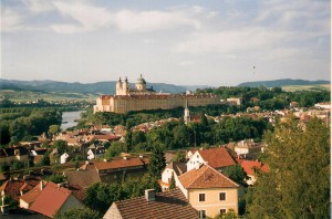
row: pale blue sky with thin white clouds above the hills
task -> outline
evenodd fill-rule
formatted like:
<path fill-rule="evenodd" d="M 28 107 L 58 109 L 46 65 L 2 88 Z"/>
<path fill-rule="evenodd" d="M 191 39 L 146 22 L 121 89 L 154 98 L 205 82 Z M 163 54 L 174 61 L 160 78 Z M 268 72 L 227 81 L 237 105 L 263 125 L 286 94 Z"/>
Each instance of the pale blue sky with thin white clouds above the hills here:
<path fill-rule="evenodd" d="M 329 0 L 1 0 L 1 79 L 330 80 Z"/>

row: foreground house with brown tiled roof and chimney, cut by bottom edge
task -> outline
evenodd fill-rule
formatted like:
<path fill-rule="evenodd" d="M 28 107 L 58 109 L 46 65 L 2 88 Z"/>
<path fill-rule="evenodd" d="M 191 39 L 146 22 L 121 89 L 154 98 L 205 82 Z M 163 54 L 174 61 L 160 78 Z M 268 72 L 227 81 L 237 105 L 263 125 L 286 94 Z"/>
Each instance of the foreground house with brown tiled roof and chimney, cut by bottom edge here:
<path fill-rule="evenodd" d="M 103 219 L 152 219 L 152 218 L 197 218 L 196 210 L 188 204 L 179 189 L 166 192 L 145 190 L 145 196 L 115 201 Z"/>

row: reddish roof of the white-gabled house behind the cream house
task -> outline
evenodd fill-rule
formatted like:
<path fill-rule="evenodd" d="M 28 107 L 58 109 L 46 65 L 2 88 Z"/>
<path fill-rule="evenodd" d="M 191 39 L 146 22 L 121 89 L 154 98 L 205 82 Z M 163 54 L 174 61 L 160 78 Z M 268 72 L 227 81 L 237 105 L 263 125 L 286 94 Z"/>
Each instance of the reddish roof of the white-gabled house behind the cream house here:
<path fill-rule="evenodd" d="M 224 147 L 198 150 L 205 161 L 212 168 L 221 168 L 236 165 L 229 153 Z"/>

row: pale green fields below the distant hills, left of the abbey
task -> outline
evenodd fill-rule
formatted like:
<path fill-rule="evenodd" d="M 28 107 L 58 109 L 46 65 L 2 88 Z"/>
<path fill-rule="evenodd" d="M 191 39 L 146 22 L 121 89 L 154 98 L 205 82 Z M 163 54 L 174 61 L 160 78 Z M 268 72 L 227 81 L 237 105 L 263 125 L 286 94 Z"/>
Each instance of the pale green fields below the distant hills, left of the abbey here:
<path fill-rule="evenodd" d="M 13 91 L 1 90 L 0 98 L 7 97 L 12 102 L 33 102 L 35 100 L 44 100 L 48 102 L 62 101 L 95 101 L 95 94 L 80 94 L 80 93 L 63 93 L 63 92 L 38 92 L 38 91 Z"/>

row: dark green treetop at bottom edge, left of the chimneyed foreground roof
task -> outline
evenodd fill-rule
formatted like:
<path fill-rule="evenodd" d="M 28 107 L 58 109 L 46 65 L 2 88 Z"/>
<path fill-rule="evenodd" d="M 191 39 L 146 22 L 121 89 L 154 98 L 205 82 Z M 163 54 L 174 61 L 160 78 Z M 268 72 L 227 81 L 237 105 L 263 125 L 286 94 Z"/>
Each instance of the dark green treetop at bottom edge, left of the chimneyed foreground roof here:
<path fill-rule="evenodd" d="M 100 213 L 90 208 L 71 208 L 64 212 L 59 212 L 55 215 L 54 219 L 98 219 Z"/>

